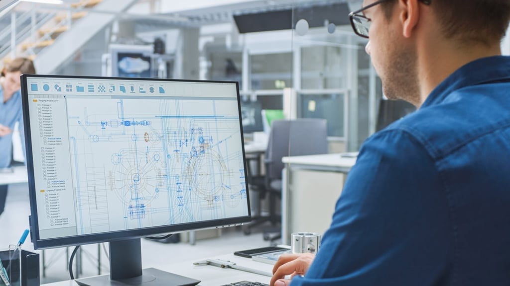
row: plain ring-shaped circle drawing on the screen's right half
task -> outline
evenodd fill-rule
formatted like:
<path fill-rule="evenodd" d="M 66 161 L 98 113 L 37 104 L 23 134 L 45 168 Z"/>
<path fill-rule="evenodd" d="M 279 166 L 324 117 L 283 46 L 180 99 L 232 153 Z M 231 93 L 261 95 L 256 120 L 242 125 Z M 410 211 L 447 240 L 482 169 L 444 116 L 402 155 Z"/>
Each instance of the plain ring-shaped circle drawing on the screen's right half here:
<path fill-rule="evenodd" d="M 224 191 L 226 167 L 219 154 L 212 150 L 192 158 L 188 166 L 190 185 L 199 197 L 212 201 Z"/>

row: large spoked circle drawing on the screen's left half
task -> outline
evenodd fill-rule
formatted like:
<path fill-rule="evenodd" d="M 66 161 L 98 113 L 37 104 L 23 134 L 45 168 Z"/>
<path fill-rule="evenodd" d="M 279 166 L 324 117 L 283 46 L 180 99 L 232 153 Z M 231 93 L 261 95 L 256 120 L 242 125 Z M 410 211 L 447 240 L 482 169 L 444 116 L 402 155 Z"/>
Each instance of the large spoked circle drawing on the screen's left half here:
<path fill-rule="evenodd" d="M 149 154 L 120 151 L 112 155 L 111 189 L 126 207 L 147 206 L 159 196 L 161 169 Z"/>

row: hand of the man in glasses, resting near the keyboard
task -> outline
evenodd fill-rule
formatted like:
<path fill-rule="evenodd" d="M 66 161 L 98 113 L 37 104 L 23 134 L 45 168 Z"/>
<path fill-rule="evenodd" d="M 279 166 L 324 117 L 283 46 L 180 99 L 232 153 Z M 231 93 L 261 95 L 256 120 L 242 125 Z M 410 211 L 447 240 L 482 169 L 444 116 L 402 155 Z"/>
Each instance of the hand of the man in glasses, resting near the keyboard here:
<path fill-rule="evenodd" d="M 284 279 L 286 275 L 304 275 L 312 265 L 315 255 L 311 253 L 283 254 L 273 267 L 271 286 L 289 285 L 290 280 Z"/>

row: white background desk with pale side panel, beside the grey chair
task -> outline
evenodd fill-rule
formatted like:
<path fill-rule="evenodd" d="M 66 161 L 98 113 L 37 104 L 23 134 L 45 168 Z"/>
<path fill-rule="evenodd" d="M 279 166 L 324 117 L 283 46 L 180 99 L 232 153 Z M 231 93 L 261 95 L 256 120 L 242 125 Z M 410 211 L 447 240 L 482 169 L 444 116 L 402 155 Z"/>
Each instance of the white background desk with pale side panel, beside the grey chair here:
<path fill-rule="evenodd" d="M 341 154 L 284 157 L 282 243 L 294 232 L 324 234 L 355 157 Z"/>

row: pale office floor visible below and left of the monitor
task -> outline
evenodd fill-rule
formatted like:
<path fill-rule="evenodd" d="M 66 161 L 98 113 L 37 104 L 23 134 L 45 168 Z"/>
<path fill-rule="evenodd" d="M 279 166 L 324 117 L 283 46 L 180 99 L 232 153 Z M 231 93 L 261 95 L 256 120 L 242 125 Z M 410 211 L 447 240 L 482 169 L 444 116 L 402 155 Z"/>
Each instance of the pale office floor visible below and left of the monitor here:
<path fill-rule="evenodd" d="M 0 249 L 7 249 L 9 244 L 18 241 L 25 228 L 28 228 L 28 216 L 30 214 L 29 195 L 27 185 L 13 185 L 9 188 L 5 212 L 0 216 Z M 33 251 L 30 238 L 23 245 L 23 249 Z M 255 229 L 251 235 L 245 236 L 238 228 L 226 228 L 219 238 L 198 240 L 195 245 L 189 243 L 164 244 L 142 239 L 142 264 L 144 268 L 158 267 L 162 264 L 189 262 L 203 258 L 213 257 L 220 254 L 230 253 L 255 247 L 268 246 L 264 241 L 261 230 Z M 105 245 L 108 249 L 108 245 Z M 81 277 L 98 274 L 97 251 L 98 245 L 86 245 L 82 253 Z M 108 273 L 109 263 L 105 247 L 101 249 L 101 274 Z M 68 252 L 72 251 L 69 248 Z M 42 253 L 40 250 L 36 252 Z M 67 271 L 66 249 L 45 250 L 46 277 L 41 276 L 41 283 L 56 282 L 69 279 Z M 42 269 L 41 269 L 42 270 Z"/>

